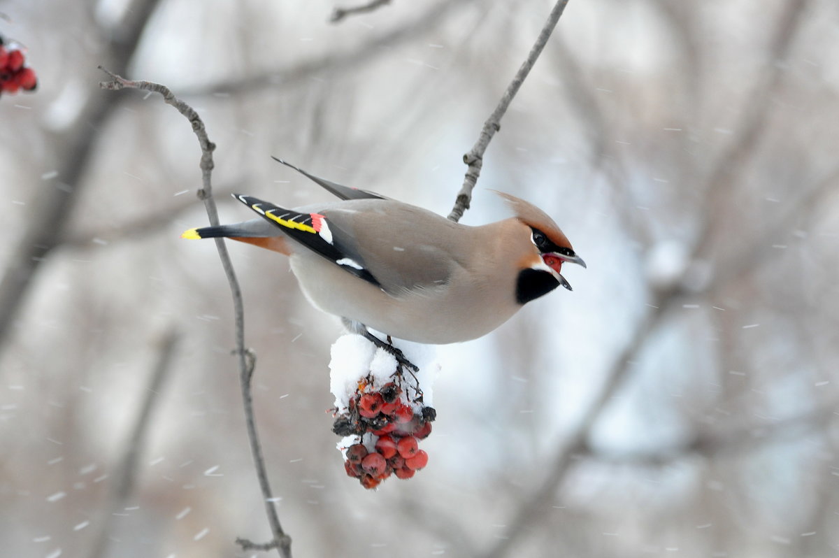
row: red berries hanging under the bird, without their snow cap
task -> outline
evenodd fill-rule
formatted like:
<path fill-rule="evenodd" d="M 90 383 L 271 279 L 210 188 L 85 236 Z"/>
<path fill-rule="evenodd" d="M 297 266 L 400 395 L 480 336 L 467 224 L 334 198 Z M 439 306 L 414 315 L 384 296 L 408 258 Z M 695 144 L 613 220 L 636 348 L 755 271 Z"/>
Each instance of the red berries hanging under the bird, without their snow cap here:
<path fill-rule="evenodd" d="M 436 411 L 422 407 L 419 414 L 414 414 L 396 383 L 364 393 L 368 387 L 363 382 L 359 385 L 347 413 L 336 418 L 332 430 L 339 435 L 359 436 L 357 443 L 347 447 L 344 468 L 364 488 L 376 488 L 391 474 L 410 478 L 425 467 L 428 454 L 420 450 L 419 442 L 431 433 Z M 368 441 L 367 446 L 362 441 Z"/>

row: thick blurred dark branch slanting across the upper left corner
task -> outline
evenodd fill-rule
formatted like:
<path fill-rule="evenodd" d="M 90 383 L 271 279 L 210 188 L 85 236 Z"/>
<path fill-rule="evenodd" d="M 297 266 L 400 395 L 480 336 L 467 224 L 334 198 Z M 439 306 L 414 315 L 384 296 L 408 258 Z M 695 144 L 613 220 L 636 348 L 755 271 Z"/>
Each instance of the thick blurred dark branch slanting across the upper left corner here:
<path fill-rule="evenodd" d="M 159 0 L 135 0 L 126 8 L 128 14 L 118 29 L 109 30 L 111 39 L 104 50 L 109 64 L 123 71 L 128 67 L 140 36 Z M 105 30 L 102 31 L 105 34 Z M 116 97 L 100 98 L 91 95 L 82 107 L 76 123 L 52 139 L 65 149 L 57 166 L 55 183 L 41 183 L 35 187 L 35 199 L 29 203 L 29 226 L 18 244 L 11 249 L 9 265 L 0 280 L 0 350 L 5 346 L 20 305 L 26 300 L 29 286 L 60 238 L 79 193 L 84 189 L 83 178 L 91 162 L 93 147 L 104 123 L 117 107 Z"/>

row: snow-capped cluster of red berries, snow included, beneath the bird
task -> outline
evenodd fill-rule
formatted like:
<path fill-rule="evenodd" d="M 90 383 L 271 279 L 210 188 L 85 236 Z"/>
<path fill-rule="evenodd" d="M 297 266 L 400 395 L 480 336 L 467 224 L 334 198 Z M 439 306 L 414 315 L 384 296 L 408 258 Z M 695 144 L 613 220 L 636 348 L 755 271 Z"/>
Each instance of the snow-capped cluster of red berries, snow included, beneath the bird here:
<path fill-rule="evenodd" d="M 431 433 L 432 383 L 440 370 L 433 347 L 393 343 L 420 371 L 399 368 L 396 359 L 364 337 L 341 336 L 332 346 L 332 430 L 344 436 L 338 449 L 347 475 L 376 488 L 395 475 L 406 479 L 428 463 L 420 440 Z"/>

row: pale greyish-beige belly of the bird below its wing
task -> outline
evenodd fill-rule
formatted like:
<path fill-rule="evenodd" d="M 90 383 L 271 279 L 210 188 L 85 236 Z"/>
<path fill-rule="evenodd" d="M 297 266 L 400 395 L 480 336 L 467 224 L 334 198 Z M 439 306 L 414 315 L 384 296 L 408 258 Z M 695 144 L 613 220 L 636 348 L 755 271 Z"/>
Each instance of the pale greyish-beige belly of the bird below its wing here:
<path fill-rule="evenodd" d="M 456 292 L 447 285 L 392 296 L 326 258 L 294 255 L 290 261 L 312 305 L 407 341 L 443 345 L 477 339 L 519 308 L 499 304 L 498 297 L 483 296 L 481 289 Z"/>

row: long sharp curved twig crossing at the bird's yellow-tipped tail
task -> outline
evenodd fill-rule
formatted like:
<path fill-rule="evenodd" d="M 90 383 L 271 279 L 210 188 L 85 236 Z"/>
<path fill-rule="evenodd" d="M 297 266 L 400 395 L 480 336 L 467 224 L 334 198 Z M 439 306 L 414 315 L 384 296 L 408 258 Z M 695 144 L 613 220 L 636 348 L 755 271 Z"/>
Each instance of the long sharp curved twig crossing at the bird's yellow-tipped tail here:
<path fill-rule="evenodd" d="M 195 112 L 195 109 L 190 107 L 185 102 L 178 99 L 169 87 L 154 83 L 152 81 L 129 81 L 121 76 L 117 76 L 111 71 L 99 68 L 112 77 L 112 81 L 102 81 L 99 86 L 103 89 L 118 91 L 123 88 L 140 89 L 143 91 L 154 91 L 163 96 L 166 104 L 175 107 L 192 125 L 192 131 L 198 138 L 198 143 L 201 145 L 201 190 L 198 190 L 198 197 L 204 201 L 207 216 L 210 219 L 212 226 L 219 225 L 218 211 L 216 209 L 216 201 L 212 197 L 211 174 L 213 169 L 212 152 L 216 149 L 216 145 L 210 141 L 207 136 L 206 128 L 201 117 Z M 242 388 L 242 403 L 245 411 L 245 421 L 248 426 L 248 439 L 251 444 L 251 452 L 253 454 L 253 464 L 257 470 L 257 477 L 259 481 L 259 488 L 263 493 L 263 502 L 266 513 L 268 514 L 268 524 L 271 527 L 273 539 L 268 543 L 271 547 L 277 548 L 279 555 L 283 558 L 291 558 L 291 537 L 286 535 L 282 526 L 279 524 L 279 516 L 277 509 L 274 507 L 274 496 L 271 493 L 271 486 L 268 482 L 268 472 L 265 469 L 265 460 L 263 458 L 262 446 L 259 443 L 259 436 L 256 427 L 256 421 L 253 418 L 253 395 L 251 393 L 251 376 L 253 374 L 254 357 L 253 354 L 245 348 L 245 317 L 242 305 L 242 289 L 239 287 L 239 282 L 236 279 L 236 272 L 233 269 L 233 264 L 230 260 L 230 255 L 227 253 L 227 246 L 221 238 L 216 238 L 216 248 L 221 259 L 221 267 L 227 276 L 227 282 L 230 284 L 230 290 L 233 297 L 233 311 L 235 315 L 236 326 L 236 354 L 239 360 L 239 383 Z"/>

